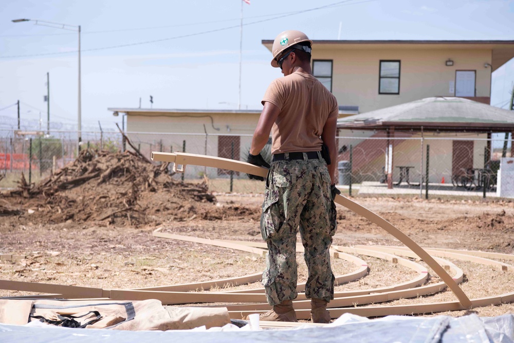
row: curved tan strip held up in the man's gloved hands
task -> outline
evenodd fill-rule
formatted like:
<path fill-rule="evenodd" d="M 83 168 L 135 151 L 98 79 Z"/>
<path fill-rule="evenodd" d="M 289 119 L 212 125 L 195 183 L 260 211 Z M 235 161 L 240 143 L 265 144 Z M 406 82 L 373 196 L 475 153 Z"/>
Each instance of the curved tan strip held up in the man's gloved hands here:
<path fill-rule="evenodd" d="M 268 169 L 263 167 L 257 167 L 252 164 L 236 161 L 228 158 L 222 157 L 214 157 L 214 156 L 206 156 L 206 155 L 195 155 L 195 154 L 186 154 L 186 153 L 162 153 L 162 152 L 152 152 L 152 160 L 154 161 L 163 161 L 163 162 L 172 162 L 174 163 L 173 170 L 175 172 L 184 172 L 186 165 L 195 165 L 195 166 L 205 166 L 205 167 L 214 167 L 221 168 L 227 170 L 233 170 L 241 173 L 248 173 L 253 175 L 259 175 L 266 177 L 268 173 Z M 181 166 L 181 168 L 178 168 Z M 342 195 L 336 195 L 334 200 L 339 205 L 346 207 L 354 211 L 355 213 L 363 216 L 364 218 L 370 220 L 372 223 L 380 226 L 384 230 L 388 231 L 395 238 L 397 238 L 401 243 L 405 244 L 409 249 L 415 252 L 417 256 L 419 256 L 425 263 L 428 264 L 432 270 L 441 278 L 450 288 L 450 290 L 455 294 L 457 299 L 460 301 L 464 308 L 469 308 L 471 306 L 471 301 L 468 296 L 464 293 L 464 291 L 457 285 L 457 283 L 446 273 L 446 270 L 440 266 L 423 248 L 421 248 L 416 242 L 410 239 L 405 233 L 401 232 L 398 228 L 396 228 L 393 224 L 389 223 L 387 220 L 383 219 L 378 214 L 370 211 L 369 209 L 357 204 L 356 202 L 348 199 Z"/>

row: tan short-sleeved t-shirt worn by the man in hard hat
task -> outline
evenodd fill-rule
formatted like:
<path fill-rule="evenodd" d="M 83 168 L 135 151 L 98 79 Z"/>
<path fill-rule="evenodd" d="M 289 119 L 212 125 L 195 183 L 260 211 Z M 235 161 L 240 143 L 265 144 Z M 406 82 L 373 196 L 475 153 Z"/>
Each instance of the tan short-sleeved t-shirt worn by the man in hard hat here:
<path fill-rule="evenodd" d="M 273 80 L 266 101 L 280 109 L 271 128 L 271 153 L 320 151 L 328 117 L 337 117 L 336 97 L 314 76 L 299 72 Z"/>

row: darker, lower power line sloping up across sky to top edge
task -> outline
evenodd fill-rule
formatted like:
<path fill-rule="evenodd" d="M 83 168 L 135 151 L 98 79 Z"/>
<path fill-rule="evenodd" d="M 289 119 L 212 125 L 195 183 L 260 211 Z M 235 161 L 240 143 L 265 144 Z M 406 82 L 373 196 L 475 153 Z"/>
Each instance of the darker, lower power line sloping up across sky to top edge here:
<path fill-rule="evenodd" d="M 338 5 L 343 5 L 345 3 L 350 3 L 350 2 L 353 2 L 353 1 L 355 1 L 355 0 L 344 0 L 344 1 L 337 2 L 337 3 L 329 4 L 329 5 L 324 5 L 324 6 L 319 6 L 319 7 L 315 7 L 315 8 L 310 8 L 310 9 L 307 9 L 307 10 L 288 12 L 287 14 L 279 15 L 279 16 L 272 17 L 272 18 L 269 18 L 269 19 L 263 19 L 263 20 L 259 20 L 259 21 L 255 21 L 255 22 L 251 22 L 251 23 L 246 23 L 246 24 L 243 24 L 243 26 L 249 26 L 249 25 L 264 23 L 264 22 L 280 19 L 280 18 L 283 18 L 285 16 L 297 15 L 297 14 L 302 14 L 302 13 L 306 13 L 306 12 L 317 11 L 317 10 L 320 10 L 320 9 L 337 7 Z M 361 4 L 361 3 L 366 3 L 366 2 L 372 2 L 372 1 L 378 1 L 378 0 L 367 0 L 367 1 L 359 2 L 359 3 L 352 3 L 352 4 L 348 4 L 348 5 L 355 5 L 355 4 Z M 175 36 L 175 37 L 157 39 L 157 40 L 152 40 L 152 41 L 127 43 L 127 44 L 120 44 L 120 45 L 114 45 L 114 46 L 106 46 L 106 47 L 101 47 L 101 48 L 82 49 L 81 52 L 107 50 L 107 49 L 115 49 L 115 48 L 122 48 L 122 47 L 128 47 L 128 46 L 136 46 L 136 45 L 143 45 L 143 44 L 165 42 L 165 41 L 170 41 L 170 40 L 175 40 L 175 39 L 180 39 L 180 38 L 194 37 L 196 35 L 201 35 L 201 34 L 214 33 L 214 32 L 219 32 L 219 31 L 226 31 L 226 30 L 230 30 L 230 29 L 233 29 L 233 28 L 239 28 L 239 27 L 241 27 L 241 25 L 232 25 L 232 26 L 227 26 L 227 27 L 223 27 L 223 28 L 219 28 L 219 29 L 212 29 L 212 30 L 201 31 L 201 32 L 196 32 L 196 33 L 183 34 L 183 35 L 178 35 L 178 36 Z M 67 53 L 77 53 L 77 52 L 78 52 L 78 50 L 65 51 L 65 52 L 48 52 L 48 53 L 39 53 L 39 54 L 32 54 L 32 55 L 0 56 L 0 58 L 5 59 L 5 58 L 19 58 L 19 57 L 38 57 L 38 56 L 50 56 L 50 55 L 64 55 L 64 54 L 67 54 Z"/>

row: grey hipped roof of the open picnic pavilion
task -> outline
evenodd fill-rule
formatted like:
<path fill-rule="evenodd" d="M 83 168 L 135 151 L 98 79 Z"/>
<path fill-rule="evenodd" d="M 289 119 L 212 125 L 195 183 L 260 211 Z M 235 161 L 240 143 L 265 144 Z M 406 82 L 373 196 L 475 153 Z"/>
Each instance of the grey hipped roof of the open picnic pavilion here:
<path fill-rule="evenodd" d="M 514 112 L 457 97 L 420 99 L 337 120 L 339 129 L 512 131 Z"/>

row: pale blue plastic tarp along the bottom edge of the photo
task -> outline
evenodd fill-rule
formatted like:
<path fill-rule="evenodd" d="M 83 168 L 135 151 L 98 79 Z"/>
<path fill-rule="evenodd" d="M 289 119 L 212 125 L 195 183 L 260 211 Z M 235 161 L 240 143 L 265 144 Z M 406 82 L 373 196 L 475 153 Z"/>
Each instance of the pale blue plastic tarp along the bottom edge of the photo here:
<path fill-rule="evenodd" d="M 513 342 L 514 318 L 511 314 L 498 317 L 479 317 L 470 314 L 458 318 L 388 316 L 373 320 L 344 315 L 339 319 L 331 327 L 263 331 L 241 329 L 222 332 L 189 330 L 134 332 L 0 324 L 0 342 Z"/>

